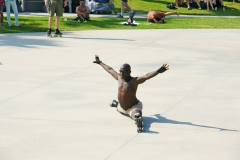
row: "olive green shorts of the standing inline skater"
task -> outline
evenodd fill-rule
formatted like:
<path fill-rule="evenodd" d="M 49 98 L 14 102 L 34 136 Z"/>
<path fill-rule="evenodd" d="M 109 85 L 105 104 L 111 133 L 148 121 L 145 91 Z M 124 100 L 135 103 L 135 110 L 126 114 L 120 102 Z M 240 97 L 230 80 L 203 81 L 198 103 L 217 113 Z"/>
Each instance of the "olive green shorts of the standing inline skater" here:
<path fill-rule="evenodd" d="M 63 16 L 64 8 L 62 0 L 49 0 L 48 13 L 50 16 Z"/>

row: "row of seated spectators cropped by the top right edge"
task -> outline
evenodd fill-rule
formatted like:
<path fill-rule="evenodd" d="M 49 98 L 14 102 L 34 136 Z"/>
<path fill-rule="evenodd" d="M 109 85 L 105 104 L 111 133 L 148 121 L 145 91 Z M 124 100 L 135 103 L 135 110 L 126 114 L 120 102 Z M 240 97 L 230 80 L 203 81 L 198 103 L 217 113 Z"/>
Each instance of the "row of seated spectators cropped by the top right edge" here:
<path fill-rule="evenodd" d="M 201 2 L 202 1 L 202 2 Z M 204 6 L 206 6 L 206 9 L 209 10 L 209 4 L 211 6 L 212 10 L 217 10 L 217 4 L 219 3 L 219 5 L 222 7 L 222 10 L 225 11 L 225 7 L 223 5 L 223 0 L 200 0 L 201 3 L 204 4 Z M 176 5 L 176 7 L 180 6 L 182 7 L 184 4 L 184 0 L 174 0 L 174 3 Z M 198 0 L 186 0 L 186 5 L 188 10 L 192 9 L 192 7 L 198 7 L 198 9 L 204 9 Z"/>

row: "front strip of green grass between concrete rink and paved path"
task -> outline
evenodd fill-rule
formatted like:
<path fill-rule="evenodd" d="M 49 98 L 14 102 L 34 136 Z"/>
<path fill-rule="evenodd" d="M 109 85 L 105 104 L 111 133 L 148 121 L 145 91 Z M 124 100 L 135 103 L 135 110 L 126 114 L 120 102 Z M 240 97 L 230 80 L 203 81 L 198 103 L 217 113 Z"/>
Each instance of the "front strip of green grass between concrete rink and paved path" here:
<path fill-rule="evenodd" d="M 64 17 L 63 17 L 64 18 Z M 126 19 L 92 18 L 89 22 L 76 23 L 61 21 L 61 31 L 106 30 L 106 29 L 187 29 L 187 28 L 240 28 L 239 18 L 167 18 L 164 24 L 147 23 L 136 18 L 138 26 L 124 26 Z M 68 17 L 69 20 L 69 17 Z M 20 17 L 22 28 L 1 28 L 0 33 L 46 32 L 47 17 Z M 7 24 L 5 24 L 6 26 Z"/>

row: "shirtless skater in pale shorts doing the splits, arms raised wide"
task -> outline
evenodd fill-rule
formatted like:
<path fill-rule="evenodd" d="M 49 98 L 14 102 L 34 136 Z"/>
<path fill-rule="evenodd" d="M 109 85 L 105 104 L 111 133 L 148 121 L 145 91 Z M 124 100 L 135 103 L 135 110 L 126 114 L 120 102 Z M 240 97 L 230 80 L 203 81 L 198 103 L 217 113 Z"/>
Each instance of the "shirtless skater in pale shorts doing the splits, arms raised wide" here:
<path fill-rule="evenodd" d="M 138 132 L 143 131 L 143 118 L 142 118 L 142 102 L 136 97 L 138 85 L 144 83 L 146 80 L 155 77 L 159 73 L 163 73 L 169 69 L 169 65 L 163 64 L 158 70 L 147 73 L 141 77 L 132 77 L 131 66 L 123 64 L 117 73 L 113 68 L 100 61 L 99 57 L 95 56 L 95 61 L 101 65 L 109 74 L 118 81 L 118 101 L 120 105 L 117 106 L 117 111 L 123 114 L 128 114 L 135 120 L 138 127 Z"/>

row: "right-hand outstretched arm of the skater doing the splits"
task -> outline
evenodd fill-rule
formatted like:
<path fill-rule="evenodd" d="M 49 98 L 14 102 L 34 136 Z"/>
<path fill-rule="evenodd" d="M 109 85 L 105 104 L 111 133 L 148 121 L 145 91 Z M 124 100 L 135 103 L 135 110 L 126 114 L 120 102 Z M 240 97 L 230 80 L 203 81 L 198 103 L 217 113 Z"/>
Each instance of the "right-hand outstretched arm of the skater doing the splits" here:
<path fill-rule="evenodd" d="M 156 71 L 153 71 L 153 72 L 150 72 L 150 73 L 147 73 L 146 75 L 144 76 L 141 76 L 141 77 L 138 77 L 137 78 L 137 82 L 138 84 L 141 84 L 143 82 L 145 82 L 146 80 L 152 78 L 152 77 L 155 77 L 156 75 L 158 75 L 159 73 L 163 73 L 165 72 L 166 70 L 169 69 L 169 65 L 167 64 L 163 64 L 161 68 L 159 68 L 158 70 Z"/>

